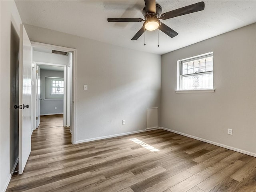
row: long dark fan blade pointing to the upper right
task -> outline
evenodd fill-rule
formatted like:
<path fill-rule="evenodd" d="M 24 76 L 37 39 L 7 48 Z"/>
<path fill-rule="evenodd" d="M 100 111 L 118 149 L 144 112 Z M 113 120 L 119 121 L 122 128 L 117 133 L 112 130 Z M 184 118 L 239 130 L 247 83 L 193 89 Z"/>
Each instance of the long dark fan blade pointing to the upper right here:
<path fill-rule="evenodd" d="M 178 17 L 181 15 L 186 15 L 189 13 L 194 13 L 194 12 L 198 12 L 198 11 L 202 11 L 204 10 L 204 2 L 199 2 L 199 3 L 195 3 L 186 7 L 182 7 L 176 10 L 172 10 L 166 13 L 163 13 L 161 15 L 161 19 L 170 19 L 170 18 L 174 18 L 174 17 Z"/>

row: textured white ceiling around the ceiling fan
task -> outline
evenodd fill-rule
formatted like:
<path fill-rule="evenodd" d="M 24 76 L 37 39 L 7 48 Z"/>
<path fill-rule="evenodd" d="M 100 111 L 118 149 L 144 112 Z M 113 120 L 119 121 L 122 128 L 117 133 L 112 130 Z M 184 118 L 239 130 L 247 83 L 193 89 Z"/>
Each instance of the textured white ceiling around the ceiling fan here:
<path fill-rule="evenodd" d="M 194 4 L 194 0 L 156 0 L 162 13 Z M 134 50 L 164 54 L 213 36 L 256 22 L 255 0 L 205 0 L 200 12 L 162 20 L 178 36 L 170 38 L 158 30 L 146 31 L 136 41 L 130 39 L 143 22 L 110 23 L 107 18 L 143 18 L 144 0 L 21 1 L 16 0 L 22 22 Z M 144 19 L 144 18 L 143 18 Z"/>

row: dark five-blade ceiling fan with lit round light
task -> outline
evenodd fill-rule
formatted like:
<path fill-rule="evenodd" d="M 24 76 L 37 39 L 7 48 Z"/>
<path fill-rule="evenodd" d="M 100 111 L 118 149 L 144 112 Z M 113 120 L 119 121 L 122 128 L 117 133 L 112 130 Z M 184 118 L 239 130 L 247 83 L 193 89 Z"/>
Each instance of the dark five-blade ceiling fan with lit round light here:
<path fill-rule="evenodd" d="M 172 10 L 166 13 L 162 12 L 162 7 L 156 3 L 156 0 L 145 0 L 145 7 L 142 10 L 142 14 L 145 20 L 141 18 L 108 18 L 108 22 L 142 22 L 144 24 L 142 28 L 134 35 L 131 40 L 137 40 L 145 30 L 153 31 L 157 28 L 164 32 L 166 35 L 170 36 L 171 38 L 178 35 L 176 31 L 168 27 L 167 25 L 160 22 L 160 19 L 166 20 L 174 17 L 178 17 L 181 15 L 186 15 L 198 11 L 204 10 L 204 2 L 195 3 L 189 6 L 185 6 L 182 8 L 178 8 L 176 10 Z"/>

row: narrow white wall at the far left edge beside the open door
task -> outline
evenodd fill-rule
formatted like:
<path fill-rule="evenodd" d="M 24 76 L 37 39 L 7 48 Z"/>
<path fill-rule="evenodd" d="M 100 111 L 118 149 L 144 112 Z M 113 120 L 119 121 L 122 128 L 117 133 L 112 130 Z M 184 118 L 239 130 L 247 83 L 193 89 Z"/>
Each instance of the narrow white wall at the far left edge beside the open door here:
<path fill-rule="evenodd" d="M 10 180 L 10 35 L 21 23 L 14 1 L 0 1 L 0 191 Z"/>

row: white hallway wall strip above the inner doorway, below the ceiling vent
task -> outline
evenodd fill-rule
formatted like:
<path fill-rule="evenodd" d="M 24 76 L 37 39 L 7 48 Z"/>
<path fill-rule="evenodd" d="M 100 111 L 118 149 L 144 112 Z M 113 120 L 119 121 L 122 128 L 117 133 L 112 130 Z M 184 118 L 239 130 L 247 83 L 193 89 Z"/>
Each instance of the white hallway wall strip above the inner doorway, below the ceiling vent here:
<path fill-rule="evenodd" d="M 44 53 L 39 51 L 33 51 L 33 61 L 62 65 L 68 65 L 69 62 L 68 56 L 66 55 Z"/>

